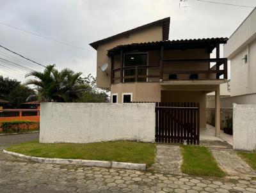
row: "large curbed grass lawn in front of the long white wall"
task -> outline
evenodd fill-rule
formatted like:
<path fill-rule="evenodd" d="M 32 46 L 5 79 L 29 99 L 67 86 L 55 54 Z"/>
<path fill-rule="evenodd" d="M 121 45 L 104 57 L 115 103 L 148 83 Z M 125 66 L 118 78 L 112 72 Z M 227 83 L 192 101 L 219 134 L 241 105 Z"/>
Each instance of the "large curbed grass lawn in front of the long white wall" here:
<path fill-rule="evenodd" d="M 45 144 L 38 141 L 15 144 L 8 151 L 46 158 L 72 158 L 84 160 L 106 160 L 147 164 L 154 163 L 155 144 L 131 141 L 114 141 L 104 143 L 56 143 Z"/>

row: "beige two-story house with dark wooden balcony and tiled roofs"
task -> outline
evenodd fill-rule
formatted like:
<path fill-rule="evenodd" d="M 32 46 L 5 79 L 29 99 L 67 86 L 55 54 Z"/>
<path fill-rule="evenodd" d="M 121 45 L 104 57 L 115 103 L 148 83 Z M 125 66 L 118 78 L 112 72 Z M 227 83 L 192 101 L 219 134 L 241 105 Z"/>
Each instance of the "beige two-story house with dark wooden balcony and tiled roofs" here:
<path fill-rule="evenodd" d="M 219 135 L 220 84 L 227 81 L 220 44 L 227 38 L 168 40 L 169 29 L 167 17 L 90 43 L 97 50 L 97 86 L 111 91 L 113 103 L 197 102 L 200 128 L 206 127 L 206 94 L 214 91 Z"/>

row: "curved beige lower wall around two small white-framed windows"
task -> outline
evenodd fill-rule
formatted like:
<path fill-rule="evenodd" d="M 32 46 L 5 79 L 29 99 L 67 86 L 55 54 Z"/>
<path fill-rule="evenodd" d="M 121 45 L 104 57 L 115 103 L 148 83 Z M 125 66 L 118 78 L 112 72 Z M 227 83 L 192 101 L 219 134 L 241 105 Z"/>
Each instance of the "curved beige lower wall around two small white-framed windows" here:
<path fill-rule="evenodd" d="M 111 85 L 112 94 L 118 94 L 118 103 L 122 102 L 122 93 L 132 93 L 133 102 L 161 102 L 161 89 L 158 82 L 132 82 Z"/>

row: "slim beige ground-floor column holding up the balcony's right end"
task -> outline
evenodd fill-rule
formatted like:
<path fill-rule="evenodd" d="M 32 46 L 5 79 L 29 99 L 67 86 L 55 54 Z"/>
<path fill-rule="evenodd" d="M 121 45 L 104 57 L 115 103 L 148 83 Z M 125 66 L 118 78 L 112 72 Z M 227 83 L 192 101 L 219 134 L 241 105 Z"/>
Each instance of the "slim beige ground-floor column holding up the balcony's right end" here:
<path fill-rule="evenodd" d="M 220 137 L 220 85 L 215 90 L 215 136 Z"/>

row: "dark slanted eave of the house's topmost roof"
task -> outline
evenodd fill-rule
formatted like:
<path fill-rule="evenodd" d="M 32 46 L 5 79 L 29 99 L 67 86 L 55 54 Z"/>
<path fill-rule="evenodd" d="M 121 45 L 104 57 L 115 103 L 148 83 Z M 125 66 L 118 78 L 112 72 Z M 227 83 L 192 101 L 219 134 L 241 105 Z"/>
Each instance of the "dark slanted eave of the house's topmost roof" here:
<path fill-rule="evenodd" d="M 90 43 L 89 45 L 92 46 L 95 50 L 97 50 L 98 45 L 100 43 L 104 43 L 109 40 L 114 40 L 115 38 L 119 38 L 120 36 L 129 35 L 129 33 L 133 33 L 134 31 L 139 31 L 141 29 L 145 29 L 146 27 L 156 26 L 156 25 L 161 25 L 163 27 L 163 30 L 162 30 L 163 40 L 168 40 L 169 39 L 169 31 L 170 31 L 170 17 L 166 17 L 164 19 L 160 19 L 155 22 L 151 22 L 149 24 L 145 24 L 143 26 L 136 27 L 134 29 L 130 29 L 130 30 L 122 32 L 122 33 L 118 33 L 117 35 L 110 36 L 108 38 L 104 38 L 102 40 L 98 40 L 96 42 Z"/>

